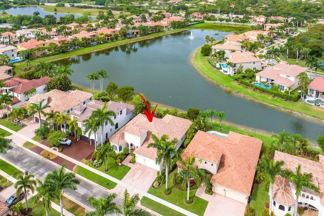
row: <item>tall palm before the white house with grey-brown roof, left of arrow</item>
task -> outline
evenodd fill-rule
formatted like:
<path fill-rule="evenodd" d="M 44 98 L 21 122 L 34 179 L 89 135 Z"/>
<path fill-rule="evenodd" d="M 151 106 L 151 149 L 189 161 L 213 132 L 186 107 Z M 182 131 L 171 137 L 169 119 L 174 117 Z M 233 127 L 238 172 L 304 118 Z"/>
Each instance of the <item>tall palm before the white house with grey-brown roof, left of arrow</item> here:
<path fill-rule="evenodd" d="M 114 111 L 107 110 L 107 107 L 108 104 L 105 102 L 101 108 L 97 108 L 91 114 L 91 116 L 94 117 L 101 126 L 101 146 L 103 145 L 103 127 L 105 122 L 108 121 L 111 126 L 115 125 L 110 117 L 116 116 L 116 113 Z"/>

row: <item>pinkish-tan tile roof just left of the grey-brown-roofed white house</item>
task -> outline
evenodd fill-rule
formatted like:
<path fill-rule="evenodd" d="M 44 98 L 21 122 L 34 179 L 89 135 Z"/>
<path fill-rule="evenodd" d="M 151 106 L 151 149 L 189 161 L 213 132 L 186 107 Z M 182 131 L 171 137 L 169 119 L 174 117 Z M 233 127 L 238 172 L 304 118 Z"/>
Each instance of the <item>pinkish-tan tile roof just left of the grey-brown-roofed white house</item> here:
<path fill-rule="evenodd" d="M 74 90 L 71 92 L 63 92 L 60 90 L 52 90 L 45 94 L 35 95 L 29 98 L 29 101 L 22 103 L 20 106 L 27 107 L 30 102 L 36 102 L 39 100 L 39 97 L 48 97 L 47 105 L 51 107 L 46 108 L 44 112 L 48 113 L 51 110 L 58 111 L 63 113 L 74 106 L 86 101 L 87 99 L 93 97 L 91 93 L 83 92 L 80 90 Z"/>

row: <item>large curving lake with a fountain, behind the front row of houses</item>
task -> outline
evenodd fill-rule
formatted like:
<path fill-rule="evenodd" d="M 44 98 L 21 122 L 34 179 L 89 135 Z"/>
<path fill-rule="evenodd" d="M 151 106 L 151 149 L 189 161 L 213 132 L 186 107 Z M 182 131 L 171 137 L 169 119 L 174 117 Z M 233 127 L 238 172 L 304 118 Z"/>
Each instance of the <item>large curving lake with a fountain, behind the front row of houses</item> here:
<path fill-rule="evenodd" d="M 252 100 L 231 91 L 224 91 L 217 84 L 200 74 L 190 63 L 193 51 L 206 43 L 205 36 L 217 31 L 192 30 L 163 37 L 144 40 L 134 44 L 98 51 L 60 60 L 69 64 L 74 73 L 72 82 L 90 87 L 86 75 L 99 69 L 107 71 L 110 79 L 118 86 L 131 85 L 136 92 L 143 93 L 149 100 L 187 110 L 213 109 L 226 113 L 226 121 L 267 132 L 301 134 L 316 142 L 324 133 L 324 123 L 307 117 L 285 112 Z M 222 38 L 227 32 L 218 32 Z M 215 73 L 218 71 L 215 70 Z M 96 88 L 100 88 L 99 81 Z"/>

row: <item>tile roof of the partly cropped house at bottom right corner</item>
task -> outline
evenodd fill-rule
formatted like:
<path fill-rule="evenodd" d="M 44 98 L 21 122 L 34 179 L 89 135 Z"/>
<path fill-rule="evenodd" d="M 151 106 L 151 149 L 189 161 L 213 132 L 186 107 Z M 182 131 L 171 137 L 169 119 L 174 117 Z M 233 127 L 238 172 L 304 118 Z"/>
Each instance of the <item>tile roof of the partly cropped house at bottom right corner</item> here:
<path fill-rule="evenodd" d="M 280 160 L 285 161 L 285 164 L 282 166 L 282 168 L 290 169 L 291 171 L 296 172 L 296 167 L 298 166 L 298 164 L 300 164 L 302 173 L 306 172 L 306 173 L 313 174 L 313 178 L 310 180 L 310 182 L 319 188 L 319 194 L 306 189 L 302 189 L 302 191 L 306 191 L 308 193 L 319 196 L 320 203 L 324 205 L 324 157 L 322 155 L 319 155 L 318 159 L 319 162 L 308 160 L 306 158 L 294 156 L 291 154 L 286 154 L 284 152 L 279 152 L 279 151 L 274 152 L 274 158 L 273 158 L 274 161 L 280 161 Z M 276 190 L 273 190 L 273 192 L 276 192 L 277 194 L 279 193 L 291 194 L 292 192 L 290 187 L 285 187 L 284 184 L 286 184 L 286 181 L 276 181 L 273 184 L 273 188 L 275 188 Z M 280 192 L 280 190 L 284 190 L 284 192 Z M 280 196 L 276 198 L 278 198 L 278 202 L 279 200 L 281 202 L 286 202 L 286 203 L 290 202 L 289 199 L 288 201 L 286 201 L 285 199 L 282 199 L 282 197 L 280 198 Z"/>

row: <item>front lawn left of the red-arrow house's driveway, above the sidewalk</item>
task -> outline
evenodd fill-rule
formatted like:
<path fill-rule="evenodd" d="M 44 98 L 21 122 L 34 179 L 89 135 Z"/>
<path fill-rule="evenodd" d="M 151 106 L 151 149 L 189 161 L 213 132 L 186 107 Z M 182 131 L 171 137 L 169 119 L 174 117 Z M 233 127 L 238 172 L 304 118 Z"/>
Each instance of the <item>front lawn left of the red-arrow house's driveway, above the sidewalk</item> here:
<path fill-rule="evenodd" d="M 81 162 L 83 162 L 85 164 L 89 164 L 90 167 L 95 168 L 92 165 L 90 160 L 83 160 Z M 121 180 L 124 178 L 124 176 L 127 174 L 127 172 L 131 169 L 131 167 L 117 166 L 117 164 L 115 163 L 115 160 L 113 158 L 108 158 L 108 171 L 106 171 L 106 172 L 104 171 L 103 164 L 99 168 L 95 168 L 95 169 L 98 169 L 109 176 L 112 176 L 118 180 Z"/>

